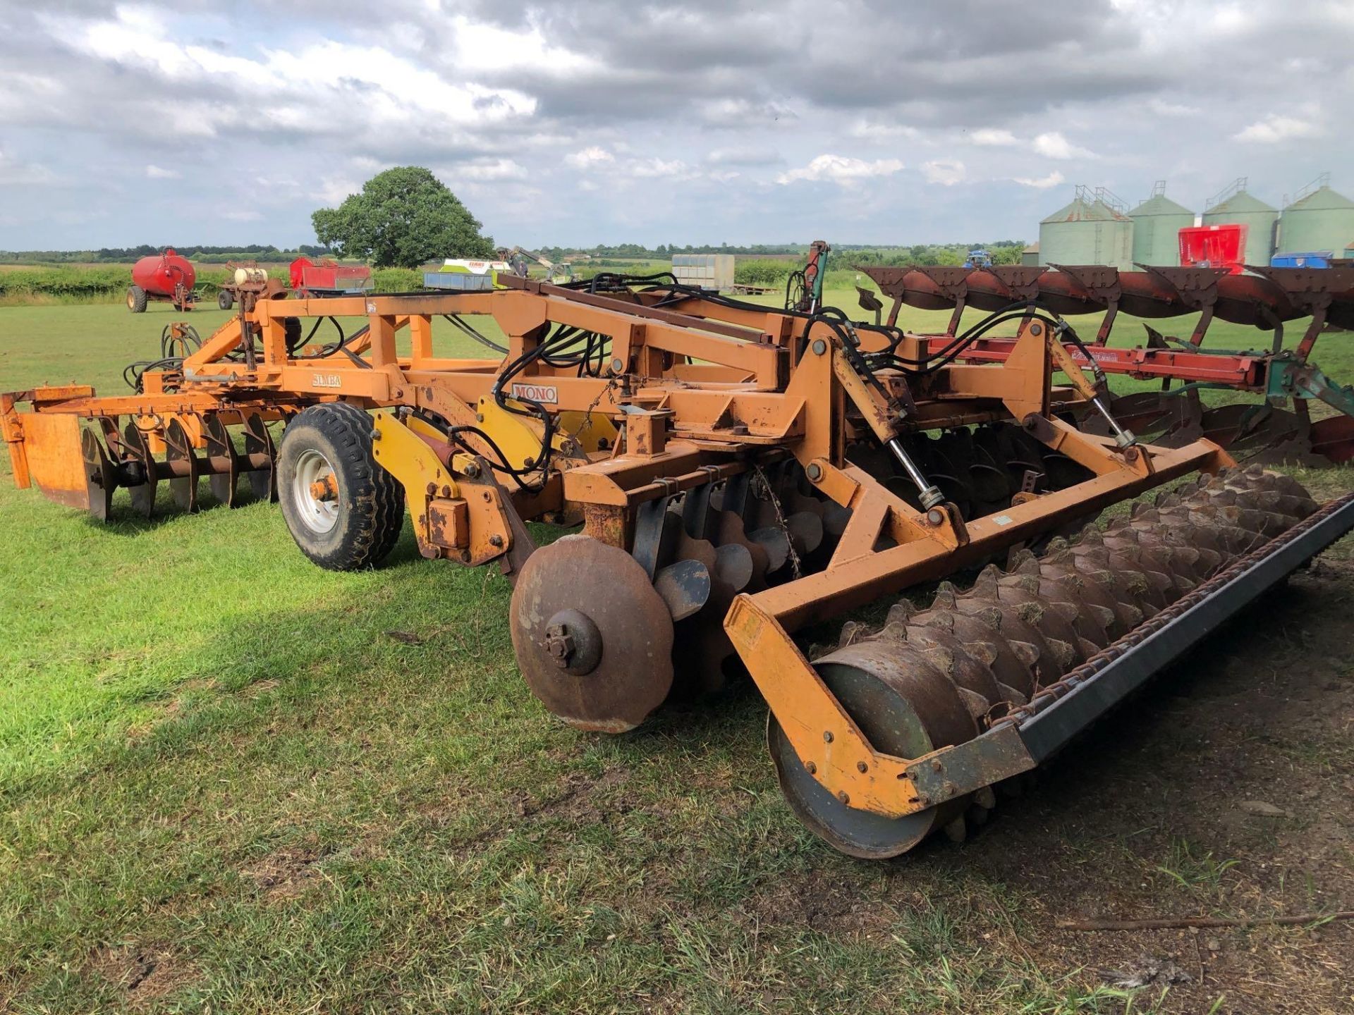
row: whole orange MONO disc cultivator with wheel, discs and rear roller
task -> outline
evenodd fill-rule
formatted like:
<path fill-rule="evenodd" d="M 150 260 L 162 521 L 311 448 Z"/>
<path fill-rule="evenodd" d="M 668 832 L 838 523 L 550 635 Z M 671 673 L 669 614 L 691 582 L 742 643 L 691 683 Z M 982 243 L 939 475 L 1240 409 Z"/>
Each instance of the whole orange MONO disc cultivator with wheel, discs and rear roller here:
<path fill-rule="evenodd" d="M 513 583 L 521 674 L 580 729 L 718 708 L 750 675 L 791 808 L 872 858 L 961 838 L 1354 526 L 1354 497 L 1317 505 L 1208 436 L 1140 440 L 1036 300 L 918 336 L 672 276 L 502 281 L 264 292 L 130 395 L 3 395 L 15 479 L 107 518 L 119 489 L 157 510 L 161 482 L 192 510 L 206 478 L 279 501 L 338 570 L 378 564 L 408 514 L 422 556 Z M 443 318 L 494 357 L 439 355 Z M 569 532 L 538 547 L 527 521 Z"/>

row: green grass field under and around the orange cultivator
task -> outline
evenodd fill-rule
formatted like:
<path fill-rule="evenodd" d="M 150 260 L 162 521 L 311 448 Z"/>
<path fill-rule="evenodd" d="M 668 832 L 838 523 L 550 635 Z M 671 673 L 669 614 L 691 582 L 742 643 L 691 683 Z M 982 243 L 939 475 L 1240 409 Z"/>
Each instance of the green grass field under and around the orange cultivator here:
<path fill-rule="evenodd" d="M 125 390 L 173 317 L 0 309 L 0 390 Z M 1317 346 L 1335 376 L 1342 344 Z M 1139 943 L 1053 930 L 1102 877 L 1215 911 L 1262 863 L 1215 895 L 1159 873 L 1208 826 L 1141 835 L 1154 804 L 1122 803 L 1113 757 L 963 847 L 852 861 L 783 805 L 753 692 L 578 734 L 516 671 L 506 581 L 422 562 L 408 529 L 386 567 L 330 574 L 272 505 L 104 526 L 0 472 L 0 1011 L 1144 1012 L 1251 989 L 1128 993 L 1098 970 Z M 1125 729 L 1129 767 L 1177 750 Z"/>

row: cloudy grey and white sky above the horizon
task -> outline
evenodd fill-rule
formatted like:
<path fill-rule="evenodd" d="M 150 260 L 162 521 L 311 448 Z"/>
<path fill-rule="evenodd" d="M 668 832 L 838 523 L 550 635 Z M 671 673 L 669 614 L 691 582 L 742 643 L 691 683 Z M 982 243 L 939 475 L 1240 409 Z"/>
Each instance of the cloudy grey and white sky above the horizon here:
<path fill-rule="evenodd" d="M 0 249 L 313 242 L 399 164 L 527 246 L 1354 196 L 1351 54 L 1351 0 L 0 0 Z"/>

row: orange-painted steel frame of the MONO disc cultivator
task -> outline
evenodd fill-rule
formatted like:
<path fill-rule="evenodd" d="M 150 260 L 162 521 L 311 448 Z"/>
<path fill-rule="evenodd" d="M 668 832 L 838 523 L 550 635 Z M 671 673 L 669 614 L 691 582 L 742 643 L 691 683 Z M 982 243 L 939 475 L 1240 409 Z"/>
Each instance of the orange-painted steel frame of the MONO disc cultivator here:
<path fill-rule="evenodd" d="M 907 418 L 898 420 L 896 403 L 890 406 L 854 371 L 839 333 L 822 319 L 806 325 L 804 318 L 773 309 L 731 307 L 663 291 L 624 298 L 512 280 L 510 288 L 493 292 L 260 299 L 184 361 L 177 392 L 158 391 L 157 379 L 148 375 L 146 392 L 125 398 L 96 398 L 89 388 L 5 397 L 8 401 L 0 402 L 0 425 L 15 459 L 16 479 L 24 484 L 28 475 L 24 421 L 51 413 L 191 418 L 203 411 L 257 406 L 276 418 L 315 402 L 345 399 L 368 409 L 427 410 L 452 426 L 489 426 L 481 409 L 492 409 L 483 399 L 490 398 L 502 364 L 436 356 L 432 319 L 441 314 L 493 317 L 508 337 L 505 361 L 532 349 L 554 323 L 611 340 L 605 376 L 577 376 L 577 371 L 554 369 L 539 360 L 521 374 L 521 382 L 554 390 L 548 409 L 575 413 L 578 418 L 604 415 L 621 426 L 623 441 L 588 451 L 565 447 L 567 453 L 556 456 L 539 493 L 513 491 L 508 498 L 520 517 L 554 513 L 555 518 L 573 521 L 581 516 L 588 535 L 628 548 L 634 510 L 642 502 L 785 453 L 803 464 L 810 482 L 825 495 L 852 509 L 825 571 L 738 595 L 724 628 L 814 777 L 852 807 L 881 815 L 904 815 L 926 805 L 909 781 L 910 769 L 923 759 L 875 751 L 791 633 L 909 585 L 944 577 L 1173 478 L 1231 464 L 1227 453 L 1206 440 L 1174 449 L 1118 449 L 1059 420 L 1053 410 L 1076 403 L 1089 384 L 1037 322 L 1022 326 L 1001 364 L 955 363 L 921 380 L 880 371 L 886 391 L 914 403 Z M 288 317 L 366 317 L 368 332 L 349 344 L 352 357 L 307 360 L 287 355 Z M 242 348 L 245 328 L 260 336 L 261 352 L 250 363 L 223 359 Z M 403 329 L 410 338 L 408 356 L 398 355 L 395 345 Z M 868 349 L 881 340 L 879 333 L 862 329 L 860 341 Z M 907 336 L 898 352 L 917 359 L 925 355 L 927 341 Z M 1052 384 L 1055 367 L 1068 374 L 1071 388 Z M 16 413 L 15 401 L 31 401 L 35 413 Z M 390 418 L 389 413 L 380 414 L 379 425 L 389 425 Z M 1093 478 L 965 524 L 949 506 L 914 509 L 852 466 L 845 453 L 849 438 L 865 437 L 869 430 L 888 440 L 900 429 L 1003 418 L 1021 422 L 1033 437 L 1089 468 Z M 512 420 L 528 432 L 540 426 L 531 418 Z M 444 441 L 417 429 L 414 433 L 436 451 L 440 464 L 435 470 L 464 476 L 468 455 L 454 455 Z M 466 443 L 483 457 L 485 449 L 477 441 L 474 434 L 466 434 Z M 420 491 L 418 502 L 436 506 L 429 501 L 433 493 L 429 484 L 427 495 Z M 445 489 L 443 493 L 445 497 Z M 508 560 L 515 540 L 524 540 L 520 524 L 504 522 L 501 505 L 496 503 L 494 512 L 492 545 L 497 549 L 475 554 L 477 563 L 493 554 Z M 464 552 L 437 549 L 437 540 L 427 531 L 429 517 L 432 512 L 424 510 L 414 518 L 425 555 L 468 559 Z M 468 520 L 471 533 L 486 524 L 489 516 L 473 514 Z M 490 545 L 482 536 L 470 540 L 481 549 Z M 883 536 L 890 537 L 887 549 L 879 548 Z"/>

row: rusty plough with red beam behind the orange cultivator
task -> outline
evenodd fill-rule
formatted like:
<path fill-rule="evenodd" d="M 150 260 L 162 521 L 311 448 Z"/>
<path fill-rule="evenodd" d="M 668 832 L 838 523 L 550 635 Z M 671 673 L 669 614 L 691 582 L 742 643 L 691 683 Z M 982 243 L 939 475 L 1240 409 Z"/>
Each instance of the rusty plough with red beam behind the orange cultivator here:
<path fill-rule="evenodd" d="M 1323 330 L 1354 329 L 1354 268 L 1151 268 L 1121 272 L 1108 265 L 1034 268 L 914 267 L 862 268 L 899 309 L 952 310 L 948 338 L 959 333 L 965 307 L 1024 310 L 1053 315 L 1102 314 L 1090 341 L 1067 332 L 1064 345 L 1078 365 L 1139 380 L 1160 380 L 1159 391 L 1112 398 L 1114 417 L 1144 438 L 1181 447 L 1198 437 L 1217 441 L 1239 459 L 1308 466 L 1354 459 L 1354 388 L 1331 382 L 1308 356 Z M 1147 329 L 1147 344 L 1127 349 L 1106 342 L 1120 313 L 1160 319 L 1197 314 L 1187 338 Z M 1273 332 L 1270 349 L 1235 351 L 1202 345 L 1216 319 Z M 1296 348 L 1284 349 L 1284 325 L 1309 318 Z M 964 348 L 967 363 L 999 363 L 1014 348 L 1011 337 L 986 334 Z M 1206 406 L 1201 390 L 1247 392 L 1248 402 Z M 1259 401 L 1255 401 L 1255 395 Z M 1313 421 L 1311 402 L 1335 410 Z M 1108 433 L 1104 420 L 1086 421 Z"/>

